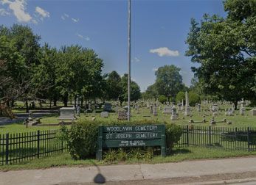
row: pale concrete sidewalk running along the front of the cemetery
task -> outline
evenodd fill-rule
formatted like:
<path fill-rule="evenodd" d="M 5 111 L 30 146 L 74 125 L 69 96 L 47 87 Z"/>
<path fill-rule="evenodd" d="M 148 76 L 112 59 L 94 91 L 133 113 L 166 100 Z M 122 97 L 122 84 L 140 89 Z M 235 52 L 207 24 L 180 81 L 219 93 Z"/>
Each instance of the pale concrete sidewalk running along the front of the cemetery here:
<path fill-rule="evenodd" d="M 158 184 L 158 182 L 159 184 L 173 184 L 172 180 L 179 180 L 179 178 L 187 179 L 187 182 L 176 181 L 177 184 L 190 184 L 190 181 L 192 184 L 192 179 L 194 181 L 196 178 L 204 177 L 205 181 L 208 181 L 208 179 L 212 179 L 210 177 L 215 175 L 224 176 L 225 174 L 233 174 L 229 180 L 237 178 L 237 175 L 240 175 L 240 178 L 256 178 L 256 157 L 165 164 L 60 167 L 46 170 L 8 171 L 0 172 L 0 184 L 92 184 L 95 181 L 98 183 L 107 182 L 107 184 L 144 184 L 143 181 L 148 181 L 146 184 Z M 222 177 L 221 179 L 225 178 Z M 131 183 L 128 183 L 129 181 Z M 160 183 L 161 181 L 163 183 Z M 195 184 L 195 181 L 193 183 Z"/>

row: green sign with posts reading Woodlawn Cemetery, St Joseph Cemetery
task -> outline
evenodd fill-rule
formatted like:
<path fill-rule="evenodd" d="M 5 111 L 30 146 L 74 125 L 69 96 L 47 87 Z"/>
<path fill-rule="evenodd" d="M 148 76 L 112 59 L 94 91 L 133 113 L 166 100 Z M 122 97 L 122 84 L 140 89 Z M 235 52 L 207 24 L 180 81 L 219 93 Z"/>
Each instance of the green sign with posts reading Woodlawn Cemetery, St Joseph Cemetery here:
<path fill-rule="evenodd" d="M 99 126 L 96 159 L 103 159 L 103 148 L 160 146 L 166 156 L 165 124 Z"/>

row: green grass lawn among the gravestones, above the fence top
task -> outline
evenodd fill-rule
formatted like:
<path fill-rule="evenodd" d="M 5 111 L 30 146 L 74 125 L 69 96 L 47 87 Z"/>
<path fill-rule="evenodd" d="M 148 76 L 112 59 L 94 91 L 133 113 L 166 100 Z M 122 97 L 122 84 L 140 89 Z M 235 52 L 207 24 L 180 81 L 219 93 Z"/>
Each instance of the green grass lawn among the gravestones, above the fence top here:
<path fill-rule="evenodd" d="M 100 112 L 100 111 L 99 111 Z M 166 122 L 166 123 L 176 123 L 178 125 L 190 125 L 189 123 L 190 119 L 193 119 L 194 121 L 200 121 L 203 120 L 203 115 L 206 114 L 205 119 L 207 120 L 207 123 L 193 123 L 196 126 L 210 126 L 210 120 L 212 119 L 212 115 L 210 115 L 210 112 L 196 112 L 193 111 L 192 117 L 184 117 L 182 113 L 179 114 L 178 120 L 170 120 L 170 115 L 163 114 L 162 111 L 158 110 L 158 115 L 153 116 L 150 114 L 150 110 L 147 108 L 140 108 L 139 114 L 136 114 L 135 109 L 131 109 L 131 120 L 132 121 L 139 121 L 139 120 L 156 120 L 159 122 Z M 232 121 L 232 125 L 228 125 L 228 123 L 216 123 L 216 127 L 256 127 L 256 116 L 252 116 L 251 112 L 249 110 L 246 110 L 246 115 L 241 116 L 239 115 L 239 111 L 236 111 L 235 116 L 226 116 L 224 115 L 224 111 L 220 112 L 220 115 L 215 116 L 216 121 L 221 121 L 226 118 L 226 120 Z M 148 117 L 149 116 L 149 117 Z M 108 116 L 108 118 L 102 118 L 100 117 L 100 113 L 88 113 L 84 114 L 81 113 L 80 117 L 77 117 L 77 120 L 91 120 L 93 117 L 96 117 L 96 120 L 100 120 L 108 123 L 116 123 L 117 122 L 117 113 L 111 112 Z M 58 129 L 59 126 L 44 126 L 46 124 L 56 124 L 59 123 L 60 120 L 58 120 L 58 115 L 50 115 L 46 117 L 41 118 L 41 126 L 31 126 L 29 128 L 26 128 L 26 126 L 22 125 L 21 123 L 15 123 L 10 125 L 5 125 L 0 127 L 0 134 L 4 133 L 18 133 L 18 132 L 28 132 L 28 131 L 36 131 L 36 130 L 47 130 L 47 129 Z"/>

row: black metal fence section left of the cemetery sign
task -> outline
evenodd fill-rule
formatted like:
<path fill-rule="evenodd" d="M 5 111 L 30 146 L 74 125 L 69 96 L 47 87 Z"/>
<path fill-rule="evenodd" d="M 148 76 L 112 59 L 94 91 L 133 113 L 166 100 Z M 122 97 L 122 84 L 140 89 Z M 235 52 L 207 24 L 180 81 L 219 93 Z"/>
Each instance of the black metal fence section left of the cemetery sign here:
<path fill-rule="evenodd" d="M 59 139 L 60 130 L 0 134 L 0 165 L 16 164 L 62 152 L 66 143 Z"/>

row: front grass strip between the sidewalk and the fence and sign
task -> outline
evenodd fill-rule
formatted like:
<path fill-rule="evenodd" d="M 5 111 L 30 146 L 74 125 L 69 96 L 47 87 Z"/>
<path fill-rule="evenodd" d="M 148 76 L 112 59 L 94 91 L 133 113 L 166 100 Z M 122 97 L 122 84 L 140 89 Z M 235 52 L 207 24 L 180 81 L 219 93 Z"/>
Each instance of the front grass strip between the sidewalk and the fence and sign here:
<path fill-rule="evenodd" d="M 195 159 L 218 159 L 227 157 L 238 157 L 238 156 L 252 156 L 256 152 L 246 152 L 239 150 L 221 150 L 214 148 L 174 148 L 173 153 L 170 156 L 154 156 L 153 159 L 129 159 L 125 162 L 114 161 L 104 162 L 97 161 L 96 159 L 85 159 L 85 160 L 74 160 L 71 158 L 69 153 L 59 153 L 58 155 L 46 156 L 40 159 L 34 159 L 27 162 L 21 162 L 21 164 L 4 165 L 0 166 L 0 170 L 23 170 L 23 169 L 41 169 L 49 167 L 86 167 L 93 165 L 106 165 L 106 164 L 156 164 L 164 162 L 182 162 L 186 160 Z"/>

